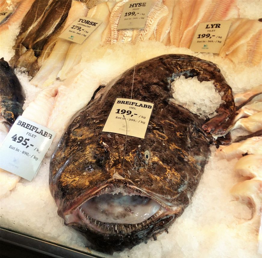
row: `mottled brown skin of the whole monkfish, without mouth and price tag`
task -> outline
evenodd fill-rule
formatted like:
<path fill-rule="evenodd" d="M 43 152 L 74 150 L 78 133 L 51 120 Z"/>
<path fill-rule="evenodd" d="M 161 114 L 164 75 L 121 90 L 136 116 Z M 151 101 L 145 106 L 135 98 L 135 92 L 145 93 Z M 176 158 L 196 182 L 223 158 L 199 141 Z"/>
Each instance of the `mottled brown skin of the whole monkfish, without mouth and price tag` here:
<path fill-rule="evenodd" d="M 208 160 L 210 135 L 202 130 L 204 121 L 169 100 L 171 83 L 180 75 L 214 80 L 226 103 L 217 110 L 219 119 L 214 121 L 219 124 L 209 123 L 213 131 L 217 126 L 226 130 L 228 121 L 221 124 L 220 117 L 226 114 L 227 120 L 232 121 L 234 101 L 216 65 L 189 55 L 162 55 L 137 64 L 135 73 L 131 68 L 109 83 L 101 96 L 72 118 L 51 158 L 50 191 L 58 215 L 64 219 L 104 185 L 137 187 L 148 196 L 154 193 L 180 208 L 179 212 L 170 210 L 141 227 L 132 225 L 128 232 L 110 229 L 105 233 L 105 223 L 96 231 L 83 225 L 80 218 L 79 222 L 66 224 L 85 234 L 97 250 L 112 253 L 145 241 L 170 226 L 190 203 Z M 104 133 L 102 129 L 116 98 L 131 97 L 132 83 L 132 99 L 154 103 L 154 108 L 145 138 L 128 136 L 125 149 L 125 135 Z M 146 150 L 149 160 L 144 155 Z M 116 171 L 124 179 L 113 178 Z"/>

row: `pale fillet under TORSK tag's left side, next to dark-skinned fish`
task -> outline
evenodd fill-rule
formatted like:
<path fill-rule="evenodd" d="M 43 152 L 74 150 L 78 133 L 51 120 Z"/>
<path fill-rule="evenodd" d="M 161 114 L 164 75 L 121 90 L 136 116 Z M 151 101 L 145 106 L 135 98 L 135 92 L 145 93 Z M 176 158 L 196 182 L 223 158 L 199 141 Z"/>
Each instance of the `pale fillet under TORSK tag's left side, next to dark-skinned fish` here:
<path fill-rule="evenodd" d="M 80 16 L 86 16 L 88 13 L 88 8 L 85 3 L 72 0 L 71 8 L 69 10 L 65 26 L 63 31 L 70 25 L 74 20 Z M 63 32 L 62 31 L 62 32 Z M 47 87 L 52 84 L 57 78 L 58 72 L 63 67 L 64 61 L 66 59 L 66 53 L 70 47 L 70 41 L 66 39 L 58 39 L 52 53 L 45 60 L 42 67 L 39 69 L 38 73 L 31 80 L 31 83 L 38 87 Z M 77 44 L 76 44 L 77 45 Z M 55 62 L 55 66 L 53 65 Z"/>

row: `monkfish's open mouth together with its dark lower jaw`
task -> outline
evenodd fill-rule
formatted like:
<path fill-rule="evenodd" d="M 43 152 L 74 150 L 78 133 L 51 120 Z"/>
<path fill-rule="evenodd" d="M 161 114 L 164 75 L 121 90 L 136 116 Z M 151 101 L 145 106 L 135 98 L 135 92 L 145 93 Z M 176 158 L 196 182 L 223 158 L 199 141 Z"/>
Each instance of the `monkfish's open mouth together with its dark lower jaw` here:
<path fill-rule="evenodd" d="M 183 209 L 132 187 L 106 187 L 63 217 L 65 225 L 84 234 L 93 249 L 113 253 L 164 231 Z"/>

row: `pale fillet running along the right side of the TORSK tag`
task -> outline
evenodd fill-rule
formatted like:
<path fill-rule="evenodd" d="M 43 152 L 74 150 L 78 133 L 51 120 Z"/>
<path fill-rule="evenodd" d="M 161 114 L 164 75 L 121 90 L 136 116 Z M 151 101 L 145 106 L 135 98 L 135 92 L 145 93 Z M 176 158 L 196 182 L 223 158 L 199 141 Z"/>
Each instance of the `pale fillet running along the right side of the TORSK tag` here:
<path fill-rule="evenodd" d="M 71 44 L 66 55 L 66 60 L 60 72 L 57 74 L 60 80 L 65 80 L 68 73 L 79 64 L 82 59 L 82 53 L 92 52 L 100 46 L 103 31 L 106 29 L 109 22 L 109 8 L 106 2 L 103 2 L 88 11 L 87 17 L 101 20 L 100 24 L 92 34 L 81 44 Z"/>

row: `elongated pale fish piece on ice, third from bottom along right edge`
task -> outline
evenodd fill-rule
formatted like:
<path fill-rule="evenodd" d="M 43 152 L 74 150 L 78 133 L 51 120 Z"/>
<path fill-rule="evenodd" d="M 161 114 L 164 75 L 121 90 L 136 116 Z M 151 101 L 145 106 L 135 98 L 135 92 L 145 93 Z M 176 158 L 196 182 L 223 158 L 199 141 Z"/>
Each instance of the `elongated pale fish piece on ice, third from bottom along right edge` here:
<path fill-rule="evenodd" d="M 262 137 L 251 137 L 240 143 L 220 146 L 215 155 L 221 159 L 231 160 L 240 158 L 245 153 L 262 155 Z"/>

